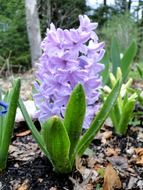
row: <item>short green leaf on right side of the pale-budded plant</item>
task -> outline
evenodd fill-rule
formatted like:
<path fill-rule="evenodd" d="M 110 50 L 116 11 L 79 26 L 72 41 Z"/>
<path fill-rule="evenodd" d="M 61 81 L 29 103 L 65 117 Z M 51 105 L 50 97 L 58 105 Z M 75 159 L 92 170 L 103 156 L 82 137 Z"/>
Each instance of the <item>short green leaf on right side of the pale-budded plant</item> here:
<path fill-rule="evenodd" d="M 118 120 L 118 125 L 114 126 L 116 133 L 119 135 L 125 135 L 128 129 L 128 124 L 131 119 L 133 109 L 135 105 L 135 100 L 128 101 L 124 105 L 124 109 L 122 110 L 122 115 L 120 120 Z"/>

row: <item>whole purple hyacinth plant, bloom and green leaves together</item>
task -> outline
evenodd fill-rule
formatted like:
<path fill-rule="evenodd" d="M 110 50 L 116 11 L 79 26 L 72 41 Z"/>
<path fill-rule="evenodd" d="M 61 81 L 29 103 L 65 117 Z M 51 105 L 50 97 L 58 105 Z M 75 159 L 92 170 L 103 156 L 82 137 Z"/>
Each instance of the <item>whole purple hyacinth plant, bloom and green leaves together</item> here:
<path fill-rule="evenodd" d="M 121 85 L 118 81 L 99 111 L 104 43 L 98 42 L 96 23 L 86 15 L 80 15 L 79 21 L 79 27 L 70 30 L 51 24 L 41 44 L 43 54 L 37 64 L 33 95 L 40 132 L 19 100 L 34 138 L 57 173 L 72 171 L 76 158 L 82 156 L 108 117 Z M 87 131 L 81 136 L 83 127 Z"/>

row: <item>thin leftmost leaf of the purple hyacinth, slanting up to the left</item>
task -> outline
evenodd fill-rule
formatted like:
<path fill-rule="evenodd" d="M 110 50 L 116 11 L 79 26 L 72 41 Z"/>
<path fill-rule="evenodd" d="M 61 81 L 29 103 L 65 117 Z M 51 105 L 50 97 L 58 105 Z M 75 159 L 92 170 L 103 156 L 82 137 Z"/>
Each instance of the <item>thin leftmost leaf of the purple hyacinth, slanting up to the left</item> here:
<path fill-rule="evenodd" d="M 31 130 L 32 132 L 32 135 L 34 137 L 34 139 L 36 140 L 36 142 L 38 143 L 39 147 L 41 148 L 41 150 L 44 152 L 44 154 L 50 159 L 50 156 L 49 156 L 49 153 L 45 147 L 45 143 L 43 141 L 43 138 L 42 136 L 40 135 L 39 131 L 37 130 L 37 128 L 35 127 L 35 125 L 33 124 L 27 110 L 26 110 L 26 107 L 22 101 L 21 98 L 19 98 L 19 101 L 18 101 L 18 106 L 23 114 L 23 117 L 29 127 L 29 129 Z"/>

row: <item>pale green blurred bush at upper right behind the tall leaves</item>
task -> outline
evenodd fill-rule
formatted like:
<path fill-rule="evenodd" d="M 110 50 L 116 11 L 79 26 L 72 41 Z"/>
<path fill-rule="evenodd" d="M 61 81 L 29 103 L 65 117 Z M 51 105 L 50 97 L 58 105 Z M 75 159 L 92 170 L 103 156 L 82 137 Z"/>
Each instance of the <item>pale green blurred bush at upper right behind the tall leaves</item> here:
<path fill-rule="evenodd" d="M 121 52 L 124 53 L 132 40 L 138 40 L 136 25 L 129 13 L 113 15 L 112 19 L 107 20 L 100 31 L 103 40 L 106 40 L 107 48 L 110 48 L 112 38 L 116 38 Z"/>

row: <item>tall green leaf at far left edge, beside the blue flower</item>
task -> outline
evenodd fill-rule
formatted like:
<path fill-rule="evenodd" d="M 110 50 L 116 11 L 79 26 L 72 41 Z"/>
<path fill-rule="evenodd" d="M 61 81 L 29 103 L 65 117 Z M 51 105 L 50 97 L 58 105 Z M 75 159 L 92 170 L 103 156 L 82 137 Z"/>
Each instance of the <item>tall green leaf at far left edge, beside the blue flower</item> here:
<path fill-rule="evenodd" d="M 18 105 L 19 93 L 21 82 L 20 79 L 16 79 L 13 83 L 13 88 L 6 95 L 4 100 L 8 102 L 8 112 L 3 117 L 2 121 L 2 139 L 0 144 L 0 169 L 6 167 L 8 148 L 11 142 L 11 136 L 14 129 L 14 121 L 16 115 L 16 109 Z"/>

